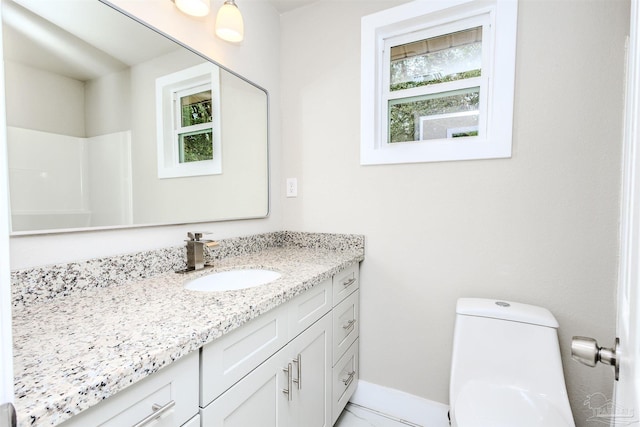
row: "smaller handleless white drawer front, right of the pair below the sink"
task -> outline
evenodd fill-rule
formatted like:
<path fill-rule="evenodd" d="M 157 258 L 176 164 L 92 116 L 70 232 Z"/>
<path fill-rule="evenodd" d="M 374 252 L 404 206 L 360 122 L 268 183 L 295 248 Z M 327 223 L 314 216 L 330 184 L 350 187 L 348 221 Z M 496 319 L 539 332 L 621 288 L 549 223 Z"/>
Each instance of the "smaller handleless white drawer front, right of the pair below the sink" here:
<path fill-rule="evenodd" d="M 331 310 L 332 282 L 327 279 L 321 284 L 295 297 L 289 305 L 289 339 L 311 326 L 316 320 Z"/>

